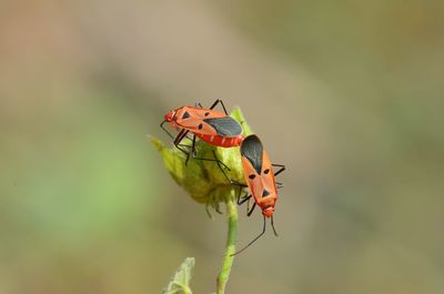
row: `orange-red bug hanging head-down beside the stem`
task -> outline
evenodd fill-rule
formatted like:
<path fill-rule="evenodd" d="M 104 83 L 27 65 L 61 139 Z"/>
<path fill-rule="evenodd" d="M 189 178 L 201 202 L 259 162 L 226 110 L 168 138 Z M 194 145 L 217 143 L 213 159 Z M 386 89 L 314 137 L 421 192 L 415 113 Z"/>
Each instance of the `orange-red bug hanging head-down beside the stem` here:
<path fill-rule="evenodd" d="M 242 141 L 241 155 L 243 173 L 251 194 L 246 194 L 243 199 L 241 199 L 240 190 L 238 204 L 242 204 L 253 197 L 254 204 L 248 211 L 246 215 L 250 216 L 254 207 L 258 205 L 262 210 L 264 223 L 262 233 L 259 234 L 253 241 L 251 241 L 245 247 L 234 254 L 241 253 L 242 251 L 248 249 L 265 233 L 266 219 L 271 219 L 271 226 L 273 227 L 274 235 L 278 236 L 276 230 L 274 229 L 273 224 L 273 212 L 278 200 L 278 189 L 282 187 L 282 184 L 278 183 L 274 178 L 285 170 L 284 165 L 273 164 L 270 162 L 266 152 L 263 150 L 261 140 L 259 140 L 259 138 L 254 134 L 246 136 Z M 280 170 L 274 173 L 273 166 L 278 166 L 280 168 Z"/>

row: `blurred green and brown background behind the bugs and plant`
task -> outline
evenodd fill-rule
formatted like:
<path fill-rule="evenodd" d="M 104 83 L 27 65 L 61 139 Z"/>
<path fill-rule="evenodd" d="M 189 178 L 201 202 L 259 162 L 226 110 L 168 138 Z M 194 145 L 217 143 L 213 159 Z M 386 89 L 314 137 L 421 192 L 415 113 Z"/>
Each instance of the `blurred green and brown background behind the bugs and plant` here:
<path fill-rule="evenodd" d="M 241 107 L 284 163 L 228 293 L 444 291 L 444 2 L 1 1 L 0 293 L 212 293 L 225 219 L 147 134 Z M 240 209 L 239 246 L 262 229 Z"/>

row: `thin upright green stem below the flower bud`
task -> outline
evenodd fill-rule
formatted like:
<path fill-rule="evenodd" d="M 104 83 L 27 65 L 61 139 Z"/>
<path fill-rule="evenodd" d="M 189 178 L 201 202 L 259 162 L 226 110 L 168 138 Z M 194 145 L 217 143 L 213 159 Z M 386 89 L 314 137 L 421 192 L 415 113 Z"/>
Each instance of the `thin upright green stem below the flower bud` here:
<path fill-rule="evenodd" d="M 229 281 L 231 266 L 233 265 L 234 256 L 232 256 L 232 254 L 235 253 L 235 239 L 238 233 L 238 207 L 234 203 L 233 195 L 230 195 L 230 197 L 226 199 L 225 204 L 229 221 L 229 233 L 226 239 L 225 254 L 222 260 L 222 268 L 218 276 L 218 294 L 225 293 L 225 285 Z"/>

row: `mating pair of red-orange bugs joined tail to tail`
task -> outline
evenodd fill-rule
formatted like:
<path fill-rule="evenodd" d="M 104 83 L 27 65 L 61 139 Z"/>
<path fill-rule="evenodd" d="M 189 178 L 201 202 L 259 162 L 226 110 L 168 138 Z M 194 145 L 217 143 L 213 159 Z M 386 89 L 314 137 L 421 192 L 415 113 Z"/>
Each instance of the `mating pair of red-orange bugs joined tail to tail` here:
<path fill-rule="evenodd" d="M 224 113 L 213 110 L 219 103 L 222 105 Z M 163 128 L 165 122 L 179 132 L 175 138 Z M 170 111 L 164 116 L 164 121 L 160 126 L 174 139 L 174 145 L 186 154 L 185 164 L 191 155 L 195 160 L 214 161 L 220 168 L 223 165 L 225 169 L 230 170 L 223 162 L 218 160 L 214 152 L 214 159 L 198 158 L 195 152 L 195 138 L 215 146 L 240 146 L 246 185 L 232 181 L 222 168 L 221 171 L 230 183 L 240 186 L 238 204 L 241 205 L 250 201 L 251 197 L 254 199 L 254 204 L 249 209 L 248 216 L 252 214 L 258 205 L 262 210 L 264 222 L 262 233 L 235 254 L 244 251 L 265 233 L 266 219 L 271 219 L 273 232 L 278 235 L 273 224 L 273 212 L 278 200 L 278 189 L 281 187 L 282 184 L 278 183 L 274 176 L 283 172 L 285 166 L 282 164 L 272 164 L 270 162 L 266 152 L 263 150 L 262 142 L 256 135 L 242 136 L 242 126 L 228 115 L 225 105 L 221 100 L 216 100 L 209 109 L 203 109 L 200 103 L 196 103 L 194 108 L 182 107 Z M 192 133 L 192 145 L 181 144 L 183 139 L 188 138 L 189 133 Z M 191 148 L 191 152 L 186 151 L 184 148 Z M 273 166 L 280 168 L 280 170 L 274 173 Z M 251 194 L 246 193 L 246 195 L 241 196 L 243 187 L 249 187 Z"/>

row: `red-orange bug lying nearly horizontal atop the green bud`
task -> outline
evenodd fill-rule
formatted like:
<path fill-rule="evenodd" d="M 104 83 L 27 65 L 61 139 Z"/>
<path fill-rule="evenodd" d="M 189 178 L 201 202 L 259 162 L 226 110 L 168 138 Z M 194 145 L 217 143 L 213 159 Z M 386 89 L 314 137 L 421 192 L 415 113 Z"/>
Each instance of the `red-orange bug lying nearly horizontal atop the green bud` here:
<path fill-rule="evenodd" d="M 219 103 L 222 105 L 224 113 L 213 110 Z M 182 107 L 176 110 L 170 111 L 164 116 L 164 121 L 160 124 L 160 126 L 171 138 L 174 138 L 163 128 L 163 124 L 165 122 L 168 122 L 172 129 L 179 131 L 179 134 L 174 139 L 174 145 L 186 154 L 186 162 L 189 160 L 190 153 L 183 150 L 181 146 L 184 145 L 180 143 L 189 134 L 189 132 L 193 133 L 191 153 L 194 159 L 196 159 L 196 136 L 209 144 L 223 148 L 239 146 L 243 140 L 241 125 L 234 119 L 228 115 L 225 105 L 223 104 L 222 100 L 219 99 L 213 103 L 213 105 L 211 105 L 210 109 L 203 109 L 201 104 L 196 104 L 196 107 L 194 108 Z M 224 166 L 226 168 L 226 165 Z"/>

